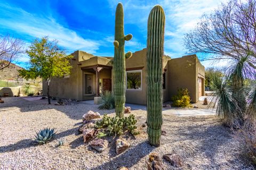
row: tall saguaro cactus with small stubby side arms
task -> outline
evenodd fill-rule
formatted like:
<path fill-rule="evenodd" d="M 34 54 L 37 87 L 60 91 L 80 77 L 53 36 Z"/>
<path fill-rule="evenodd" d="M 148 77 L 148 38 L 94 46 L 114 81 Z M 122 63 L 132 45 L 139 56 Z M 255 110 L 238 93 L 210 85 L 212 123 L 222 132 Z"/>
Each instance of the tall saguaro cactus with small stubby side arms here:
<path fill-rule="evenodd" d="M 132 56 L 132 52 L 124 54 L 124 42 L 132 39 L 132 35 L 124 36 L 124 10 L 122 3 L 118 3 L 116 7 L 115 21 L 115 54 L 114 54 L 114 94 L 116 115 L 124 116 L 125 104 L 125 59 Z"/>

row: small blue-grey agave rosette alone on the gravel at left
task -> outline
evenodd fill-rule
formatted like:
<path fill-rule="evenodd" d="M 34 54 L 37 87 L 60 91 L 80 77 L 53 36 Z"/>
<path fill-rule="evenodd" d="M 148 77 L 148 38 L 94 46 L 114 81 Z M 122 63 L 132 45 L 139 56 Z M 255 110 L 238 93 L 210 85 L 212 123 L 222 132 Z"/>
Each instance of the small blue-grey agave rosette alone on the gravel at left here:
<path fill-rule="evenodd" d="M 45 129 L 41 129 L 39 132 L 36 133 L 36 141 L 38 144 L 45 144 L 47 142 L 49 142 L 54 136 L 55 129 L 50 129 L 50 128 L 45 128 Z"/>

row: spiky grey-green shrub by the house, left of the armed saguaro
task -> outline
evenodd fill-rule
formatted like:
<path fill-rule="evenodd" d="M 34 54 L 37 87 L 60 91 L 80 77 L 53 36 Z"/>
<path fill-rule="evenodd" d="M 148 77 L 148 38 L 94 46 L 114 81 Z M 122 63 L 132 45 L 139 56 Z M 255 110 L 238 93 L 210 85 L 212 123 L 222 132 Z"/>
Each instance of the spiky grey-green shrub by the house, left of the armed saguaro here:
<path fill-rule="evenodd" d="M 112 95 L 111 91 L 104 91 L 101 95 L 102 103 L 99 109 L 113 109 L 115 108 L 115 97 Z"/>

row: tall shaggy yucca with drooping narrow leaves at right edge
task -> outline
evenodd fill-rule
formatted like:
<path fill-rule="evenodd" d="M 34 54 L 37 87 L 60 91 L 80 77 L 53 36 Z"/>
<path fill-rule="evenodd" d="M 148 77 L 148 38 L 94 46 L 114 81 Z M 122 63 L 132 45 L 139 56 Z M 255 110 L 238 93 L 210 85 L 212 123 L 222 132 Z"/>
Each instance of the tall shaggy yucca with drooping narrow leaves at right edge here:
<path fill-rule="evenodd" d="M 226 125 L 241 128 L 245 121 L 246 125 L 253 125 L 256 116 L 255 72 L 245 56 L 233 60 L 233 64 L 226 68 L 225 76 L 212 77 L 213 103 L 217 104 L 217 115 L 223 117 Z M 245 86 L 245 80 L 251 86 Z"/>

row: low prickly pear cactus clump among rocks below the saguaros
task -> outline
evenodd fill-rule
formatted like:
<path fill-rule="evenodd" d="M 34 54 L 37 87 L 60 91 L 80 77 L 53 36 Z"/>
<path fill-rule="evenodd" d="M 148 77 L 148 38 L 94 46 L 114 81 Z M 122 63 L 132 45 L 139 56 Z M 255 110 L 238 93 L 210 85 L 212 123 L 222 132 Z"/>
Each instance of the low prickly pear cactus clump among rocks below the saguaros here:
<path fill-rule="evenodd" d="M 105 114 L 102 120 L 96 122 L 94 128 L 103 129 L 103 132 L 98 134 L 98 138 L 104 137 L 105 135 L 122 135 L 124 131 L 137 135 L 139 132 L 135 125 L 136 123 L 137 120 L 135 120 L 134 115 L 119 118 L 118 116 L 110 117 Z"/>

